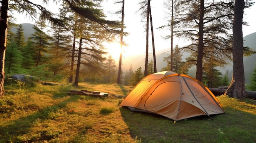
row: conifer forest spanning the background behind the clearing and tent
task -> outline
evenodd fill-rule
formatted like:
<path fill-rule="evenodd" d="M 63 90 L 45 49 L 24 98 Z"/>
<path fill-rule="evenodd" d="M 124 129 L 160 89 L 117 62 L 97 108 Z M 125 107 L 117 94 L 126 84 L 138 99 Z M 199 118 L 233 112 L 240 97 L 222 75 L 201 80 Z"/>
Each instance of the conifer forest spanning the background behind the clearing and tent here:
<path fill-rule="evenodd" d="M 150 0 L 138 2 L 140 6 L 138 11 L 142 17 L 141 22 L 145 23 L 145 65 L 141 65 L 137 69 L 133 69 L 131 65 L 127 71 L 123 71 L 121 68 L 122 54 L 120 53 L 119 61 L 115 61 L 111 55 L 104 57 L 107 53 L 106 47 L 103 45 L 103 42 L 117 39 L 120 40 L 121 48 L 126 45 L 123 41 L 123 37 L 128 34 L 125 32 L 124 0 L 115 2 L 121 7 L 119 11 L 113 11 L 120 17 L 115 21 L 105 19 L 106 15 L 100 9 L 101 0 L 63 0 L 58 3 L 61 4 L 59 13 L 51 13 L 43 5 L 29 0 L 2 0 L 1 19 L 7 19 L 7 15 L 4 14 L 4 2 L 9 4 L 10 11 L 26 13 L 31 18 L 36 19 L 36 25 L 33 27 L 35 32 L 31 36 L 25 37 L 22 25 L 16 25 L 11 20 L 9 21 L 5 36 L 7 42 L 3 42 L 1 45 L 6 47 L 5 58 L 2 58 L 5 60 L 5 63 L 2 64 L 2 66 L 4 65 L 2 77 L 27 74 L 34 75 L 41 81 L 64 81 L 73 83 L 74 86 L 77 86 L 81 81 L 99 84 L 116 82 L 135 86 L 146 75 L 157 72 L 153 35 L 154 19 L 150 9 L 152 7 Z M 52 4 L 48 0 L 43 2 Z M 55 0 L 52 2 L 57 3 Z M 233 87 L 229 88 L 231 91 L 233 89 L 239 89 L 239 91 L 235 91 L 235 93 L 232 91 L 232 95 L 230 95 L 245 97 L 244 78 L 241 78 L 244 77 L 244 69 L 241 66 L 243 60 L 241 63 L 240 59 L 256 52 L 250 47 L 243 46 L 241 26 L 246 22 L 243 22 L 243 13 L 239 15 L 236 11 L 249 8 L 253 4 L 254 2 L 251 0 L 236 0 L 236 2 L 230 0 L 218 2 L 204 0 L 166 1 L 164 5 L 170 11 L 170 16 L 166 18 L 168 22 L 159 29 L 169 30 L 170 35 L 164 38 L 172 40 L 175 35 L 188 39 L 191 43 L 184 47 L 179 47 L 179 45 L 173 47 L 171 44 L 170 56 L 163 59 L 167 65 L 161 70 L 187 74 L 191 66 L 196 66 L 195 78 L 206 86 L 229 86 L 233 85 L 233 82 L 236 86 L 238 83 L 243 85 L 242 88 L 231 86 Z M 236 20 L 234 20 L 235 17 Z M 10 15 L 9 19 L 11 18 L 15 18 L 15 15 Z M 52 35 L 45 33 L 47 23 L 51 24 Z M 0 26 L 4 29 L 4 24 L 1 23 Z M 12 26 L 17 27 L 15 32 L 9 30 Z M 0 32 L 1 36 L 4 36 L 2 33 L 5 32 Z M 149 48 L 153 48 L 153 57 L 151 58 L 148 57 Z M 2 49 L 4 56 L 5 48 Z M 186 61 L 181 59 L 184 51 L 190 53 Z M 238 65 L 234 64 L 236 70 L 233 71 L 232 81 L 229 81 L 226 75 L 222 75 L 216 69 L 229 64 L 230 61 L 239 63 Z M 2 78 L 2 80 L 4 79 Z"/>

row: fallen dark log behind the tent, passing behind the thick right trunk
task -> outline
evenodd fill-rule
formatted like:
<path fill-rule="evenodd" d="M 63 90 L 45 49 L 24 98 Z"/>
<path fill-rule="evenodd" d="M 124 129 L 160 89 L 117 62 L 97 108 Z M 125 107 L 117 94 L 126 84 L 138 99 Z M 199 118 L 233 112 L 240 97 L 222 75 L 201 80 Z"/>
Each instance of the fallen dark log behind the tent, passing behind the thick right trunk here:
<path fill-rule="evenodd" d="M 225 91 L 227 90 L 228 86 L 222 86 L 222 87 L 218 87 L 218 88 L 209 88 L 209 90 L 211 90 L 211 92 L 215 95 L 215 96 L 219 96 L 219 95 L 223 95 L 225 93 Z M 248 98 L 250 99 L 256 99 L 256 91 L 247 91 L 245 90 L 245 93 L 248 95 Z"/>

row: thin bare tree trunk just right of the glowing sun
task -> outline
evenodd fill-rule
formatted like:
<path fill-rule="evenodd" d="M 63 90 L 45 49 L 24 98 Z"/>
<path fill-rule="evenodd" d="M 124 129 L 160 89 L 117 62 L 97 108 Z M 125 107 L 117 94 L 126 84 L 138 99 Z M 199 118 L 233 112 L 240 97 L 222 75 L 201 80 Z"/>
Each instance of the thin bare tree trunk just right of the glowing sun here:
<path fill-rule="evenodd" d="M 117 84 L 121 84 L 121 66 L 122 66 L 122 52 L 123 52 L 123 33 L 124 33 L 124 0 L 122 5 L 122 27 L 121 27 L 121 35 L 120 35 L 120 56 L 119 56 L 119 66 L 118 66 L 118 75 L 117 75 Z"/>

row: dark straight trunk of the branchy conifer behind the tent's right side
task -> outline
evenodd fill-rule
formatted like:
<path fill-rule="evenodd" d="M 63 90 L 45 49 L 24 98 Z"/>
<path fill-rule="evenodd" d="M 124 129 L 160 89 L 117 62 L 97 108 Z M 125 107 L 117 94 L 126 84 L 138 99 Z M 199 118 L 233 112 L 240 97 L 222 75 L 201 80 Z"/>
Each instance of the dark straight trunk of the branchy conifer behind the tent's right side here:
<path fill-rule="evenodd" d="M 203 54 L 204 54 L 204 0 L 200 0 L 200 18 L 198 33 L 198 57 L 195 78 L 202 82 L 203 79 Z"/>

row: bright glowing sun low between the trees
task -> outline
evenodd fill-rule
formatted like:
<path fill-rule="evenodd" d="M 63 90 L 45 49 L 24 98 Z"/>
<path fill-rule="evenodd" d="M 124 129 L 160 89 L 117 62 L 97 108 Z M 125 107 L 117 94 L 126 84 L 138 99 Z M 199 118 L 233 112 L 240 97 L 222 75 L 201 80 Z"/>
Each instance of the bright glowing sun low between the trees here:
<path fill-rule="evenodd" d="M 116 61 L 119 60 L 119 56 L 121 53 L 121 46 L 118 42 L 110 42 L 105 44 L 106 51 L 108 52 L 108 56 L 111 55 L 113 59 Z"/>

